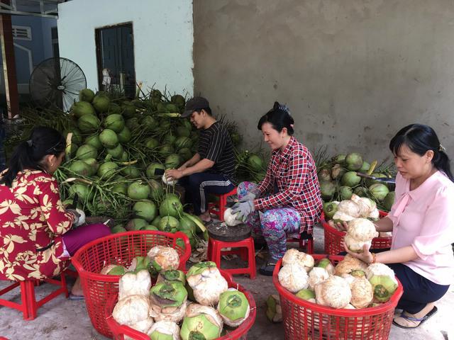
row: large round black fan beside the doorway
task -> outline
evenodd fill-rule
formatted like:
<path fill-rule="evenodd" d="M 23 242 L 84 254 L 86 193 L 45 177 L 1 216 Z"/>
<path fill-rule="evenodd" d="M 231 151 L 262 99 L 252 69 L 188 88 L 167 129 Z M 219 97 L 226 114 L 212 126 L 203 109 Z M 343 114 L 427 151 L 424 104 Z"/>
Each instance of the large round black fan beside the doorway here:
<path fill-rule="evenodd" d="M 49 58 L 40 62 L 28 82 L 33 102 L 41 108 L 68 111 L 87 79 L 78 64 L 66 58 Z"/>

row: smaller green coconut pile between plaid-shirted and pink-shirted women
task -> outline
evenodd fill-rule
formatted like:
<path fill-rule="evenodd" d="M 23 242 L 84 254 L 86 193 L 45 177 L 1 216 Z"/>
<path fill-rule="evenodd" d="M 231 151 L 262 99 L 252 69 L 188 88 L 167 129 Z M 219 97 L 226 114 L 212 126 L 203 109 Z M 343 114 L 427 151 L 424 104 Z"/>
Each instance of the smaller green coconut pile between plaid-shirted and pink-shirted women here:
<path fill-rule="evenodd" d="M 357 172 L 376 178 L 395 176 L 392 166 L 377 161 L 365 161 L 361 154 L 338 154 L 328 162 L 323 162 L 318 169 L 323 212 L 327 220 L 333 217 L 338 203 L 351 200 L 352 196 L 370 198 L 383 211 L 391 210 L 394 203 L 394 185 L 358 176 Z"/>

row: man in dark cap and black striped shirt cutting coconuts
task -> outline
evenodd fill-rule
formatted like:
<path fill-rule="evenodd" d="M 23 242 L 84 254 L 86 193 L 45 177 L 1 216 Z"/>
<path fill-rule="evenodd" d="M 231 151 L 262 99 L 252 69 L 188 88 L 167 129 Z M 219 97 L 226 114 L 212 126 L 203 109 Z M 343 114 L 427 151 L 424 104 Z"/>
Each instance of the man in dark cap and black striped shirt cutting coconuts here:
<path fill-rule="evenodd" d="M 235 188 L 235 154 L 227 129 L 211 113 L 209 102 L 203 97 L 190 99 L 184 107 L 183 118 L 201 130 L 196 154 L 178 169 L 167 170 L 167 179 L 179 179 L 186 190 L 186 198 L 194 205 L 194 214 L 205 222 L 208 193 L 228 193 Z"/>

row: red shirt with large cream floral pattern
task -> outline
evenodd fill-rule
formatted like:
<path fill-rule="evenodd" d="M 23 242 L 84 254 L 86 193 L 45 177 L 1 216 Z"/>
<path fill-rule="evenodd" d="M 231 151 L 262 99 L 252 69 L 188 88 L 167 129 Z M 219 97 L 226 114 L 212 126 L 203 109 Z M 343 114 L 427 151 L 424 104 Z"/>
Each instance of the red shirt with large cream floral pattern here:
<path fill-rule="evenodd" d="M 19 172 L 11 188 L 0 184 L 0 278 L 44 279 L 69 265 L 61 235 L 74 216 L 60 200 L 55 178 L 38 170 Z"/>

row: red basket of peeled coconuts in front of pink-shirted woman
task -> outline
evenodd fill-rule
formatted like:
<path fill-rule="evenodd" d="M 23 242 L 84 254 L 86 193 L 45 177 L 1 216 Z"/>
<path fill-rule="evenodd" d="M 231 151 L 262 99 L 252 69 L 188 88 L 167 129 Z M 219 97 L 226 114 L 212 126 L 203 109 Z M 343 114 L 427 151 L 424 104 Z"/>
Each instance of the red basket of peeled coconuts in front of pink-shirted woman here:
<path fill-rule="evenodd" d="M 343 259 L 336 255 L 312 255 L 314 259 L 328 259 L 333 264 Z M 282 260 L 275 266 L 272 282 L 281 300 L 285 339 L 343 339 L 385 340 L 391 329 L 394 309 L 404 290 L 399 282 L 389 301 L 377 307 L 358 310 L 336 310 L 299 299 L 282 287 L 277 278 Z"/>

